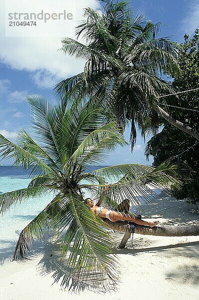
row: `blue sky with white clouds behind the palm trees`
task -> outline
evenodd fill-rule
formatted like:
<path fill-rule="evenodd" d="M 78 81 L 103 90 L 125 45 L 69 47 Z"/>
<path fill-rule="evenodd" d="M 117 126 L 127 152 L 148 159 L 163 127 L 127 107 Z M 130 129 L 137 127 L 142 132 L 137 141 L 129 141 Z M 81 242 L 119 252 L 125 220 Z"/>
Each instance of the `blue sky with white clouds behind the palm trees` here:
<path fill-rule="evenodd" d="M 20 1 L 21 5 L 23 1 Z M 19 11 L 18 3 L 18 0 L 0 2 L 0 133 L 11 140 L 21 127 L 30 129 L 29 108 L 25 102 L 27 94 L 41 94 L 51 100 L 56 82 L 82 70 L 82 61 L 64 56 L 57 49 L 61 46 L 61 37 L 74 37 L 73 27 L 82 19 L 82 8 L 97 7 L 95 0 L 28 0 L 25 4 L 28 3 L 31 11 L 49 10 L 50 5 L 53 10 L 56 4 L 56 9 L 66 9 L 75 16 L 71 22 L 67 21 L 66 26 L 60 22 L 58 29 L 49 21 L 48 27 L 43 26 L 44 30 L 33 36 L 21 28 L 17 28 L 17 32 L 7 31 L 10 29 L 7 27 L 7 12 L 14 5 L 17 5 Z M 170 36 L 177 42 L 183 41 L 185 32 L 191 36 L 194 29 L 199 27 L 199 0 L 131 0 L 131 5 L 135 11 L 144 14 L 147 20 L 164 23 L 160 35 Z M 125 137 L 128 140 L 128 130 Z M 144 142 L 138 136 L 133 153 L 130 146 L 117 148 L 106 164 L 151 163 L 152 159 L 149 162 L 145 160 L 143 149 Z M 10 160 L 0 163 L 9 164 Z"/>

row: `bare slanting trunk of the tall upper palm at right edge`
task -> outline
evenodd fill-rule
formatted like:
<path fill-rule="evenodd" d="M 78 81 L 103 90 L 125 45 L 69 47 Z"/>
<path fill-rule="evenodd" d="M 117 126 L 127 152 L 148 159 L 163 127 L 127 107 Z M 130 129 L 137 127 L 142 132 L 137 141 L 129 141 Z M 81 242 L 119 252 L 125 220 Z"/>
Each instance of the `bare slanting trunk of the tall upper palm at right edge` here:
<path fill-rule="evenodd" d="M 175 126 L 176 128 L 184 131 L 185 133 L 190 134 L 191 136 L 193 136 L 194 138 L 196 138 L 197 140 L 199 140 L 199 133 L 192 129 L 189 126 L 186 126 L 185 124 L 183 124 L 182 122 L 174 119 L 171 115 L 169 115 L 165 110 L 163 110 L 160 106 L 156 106 L 153 107 L 153 109 L 155 111 L 157 111 L 158 114 L 160 114 L 165 120 L 167 120 L 171 125 Z"/>

